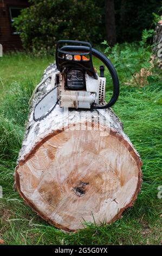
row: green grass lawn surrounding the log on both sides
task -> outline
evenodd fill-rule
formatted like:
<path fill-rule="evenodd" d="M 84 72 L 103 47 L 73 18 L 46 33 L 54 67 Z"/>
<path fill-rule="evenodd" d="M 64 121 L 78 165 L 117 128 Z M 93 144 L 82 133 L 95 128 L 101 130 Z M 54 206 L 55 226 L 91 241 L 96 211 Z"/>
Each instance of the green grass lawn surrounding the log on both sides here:
<path fill-rule="evenodd" d="M 143 166 L 141 192 L 123 218 L 109 224 L 87 224 L 77 233 L 65 233 L 41 220 L 13 190 L 13 173 L 28 116 L 34 86 L 53 57 L 12 53 L 0 58 L 0 239 L 7 245 L 158 245 L 161 243 L 162 185 L 160 71 L 154 69 L 144 87 L 121 83 L 113 110 L 138 150 Z M 99 65 L 95 60 L 95 65 Z M 120 78 L 122 81 L 122 77 Z M 107 93 L 107 96 L 109 94 Z"/>

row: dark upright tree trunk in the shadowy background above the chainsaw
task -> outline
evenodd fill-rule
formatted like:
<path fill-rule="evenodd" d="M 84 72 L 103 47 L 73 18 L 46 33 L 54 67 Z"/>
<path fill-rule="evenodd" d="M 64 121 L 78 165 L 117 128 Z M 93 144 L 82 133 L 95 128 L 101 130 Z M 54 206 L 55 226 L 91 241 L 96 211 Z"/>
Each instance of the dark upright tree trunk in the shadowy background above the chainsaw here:
<path fill-rule="evenodd" d="M 115 10 L 114 0 L 105 1 L 105 24 L 106 24 L 106 39 L 109 46 L 116 44 L 116 27 L 115 27 Z"/>

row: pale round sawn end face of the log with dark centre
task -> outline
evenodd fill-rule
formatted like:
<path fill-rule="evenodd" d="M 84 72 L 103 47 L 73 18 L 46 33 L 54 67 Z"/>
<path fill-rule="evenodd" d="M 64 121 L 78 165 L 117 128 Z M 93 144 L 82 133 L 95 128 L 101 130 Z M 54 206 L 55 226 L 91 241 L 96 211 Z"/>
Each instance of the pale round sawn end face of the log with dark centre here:
<path fill-rule="evenodd" d="M 80 125 L 80 124 L 76 124 Z M 114 130 L 55 130 L 16 167 L 17 190 L 44 220 L 64 230 L 84 222 L 110 223 L 132 206 L 141 186 L 141 161 Z"/>

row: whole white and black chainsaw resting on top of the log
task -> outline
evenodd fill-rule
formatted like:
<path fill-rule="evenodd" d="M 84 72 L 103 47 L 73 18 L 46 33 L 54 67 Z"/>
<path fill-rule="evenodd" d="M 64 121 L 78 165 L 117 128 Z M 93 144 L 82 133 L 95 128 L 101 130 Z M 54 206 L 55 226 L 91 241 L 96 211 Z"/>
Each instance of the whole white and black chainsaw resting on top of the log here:
<path fill-rule="evenodd" d="M 98 75 L 92 56 L 100 59 L 111 74 L 113 95 L 108 103 L 105 101 L 105 66 L 100 65 Z M 57 70 L 47 77 L 51 77 L 50 91 L 35 106 L 35 121 L 46 118 L 57 104 L 61 108 L 103 109 L 112 107 L 118 99 L 119 79 L 114 66 L 104 54 L 92 48 L 89 42 L 58 41 L 56 66 Z"/>

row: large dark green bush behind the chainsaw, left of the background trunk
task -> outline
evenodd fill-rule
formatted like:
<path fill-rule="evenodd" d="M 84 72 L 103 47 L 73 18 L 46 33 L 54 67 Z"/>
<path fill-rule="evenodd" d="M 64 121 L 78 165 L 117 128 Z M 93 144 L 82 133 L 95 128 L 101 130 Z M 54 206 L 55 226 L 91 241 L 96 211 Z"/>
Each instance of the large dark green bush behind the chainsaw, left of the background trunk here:
<path fill-rule="evenodd" d="M 30 0 L 15 25 L 25 48 L 40 54 L 54 53 L 60 39 L 100 42 L 102 9 L 93 0 Z"/>

